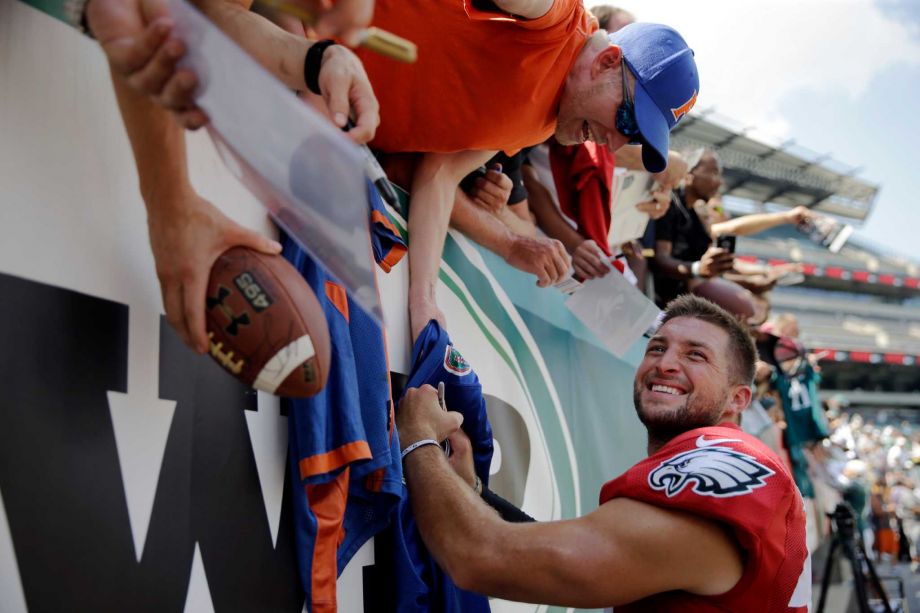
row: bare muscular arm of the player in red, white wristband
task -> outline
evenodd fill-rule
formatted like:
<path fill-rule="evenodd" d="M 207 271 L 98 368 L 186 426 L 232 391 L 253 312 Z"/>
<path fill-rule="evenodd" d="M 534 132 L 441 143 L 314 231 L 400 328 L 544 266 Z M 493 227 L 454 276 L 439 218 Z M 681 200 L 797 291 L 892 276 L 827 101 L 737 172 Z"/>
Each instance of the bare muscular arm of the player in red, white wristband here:
<path fill-rule="evenodd" d="M 459 427 L 430 387 L 397 412 L 406 446 Z M 625 498 L 566 521 L 510 524 L 434 446 L 404 460 L 412 509 L 429 551 L 464 589 L 510 600 L 599 608 L 670 590 L 715 595 L 741 578 L 736 543 L 715 523 Z M 444 517 L 451 517 L 444 521 Z"/>

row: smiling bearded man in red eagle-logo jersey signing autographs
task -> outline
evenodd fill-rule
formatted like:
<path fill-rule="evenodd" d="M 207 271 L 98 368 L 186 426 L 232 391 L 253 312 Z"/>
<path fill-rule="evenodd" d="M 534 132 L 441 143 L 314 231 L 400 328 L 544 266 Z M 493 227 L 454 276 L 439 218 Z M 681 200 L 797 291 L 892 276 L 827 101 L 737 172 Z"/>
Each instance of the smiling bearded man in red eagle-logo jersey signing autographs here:
<path fill-rule="evenodd" d="M 397 422 L 429 550 L 461 587 L 510 600 L 617 613 L 805 611 L 802 499 L 779 458 L 736 425 L 755 359 L 727 312 L 674 300 L 636 372 L 649 457 L 604 485 L 596 511 L 556 522 L 511 524 L 483 504 L 434 444 L 457 429 L 457 414 L 441 411 L 431 388 L 410 390 Z"/>

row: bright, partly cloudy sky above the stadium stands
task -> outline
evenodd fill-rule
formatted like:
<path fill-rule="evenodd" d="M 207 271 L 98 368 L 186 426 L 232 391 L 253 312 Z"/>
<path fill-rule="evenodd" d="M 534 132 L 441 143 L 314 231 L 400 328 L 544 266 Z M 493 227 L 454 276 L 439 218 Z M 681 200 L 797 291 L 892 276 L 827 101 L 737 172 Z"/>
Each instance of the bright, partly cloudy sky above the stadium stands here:
<path fill-rule="evenodd" d="M 614 4 L 684 36 L 697 110 L 859 167 L 881 190 L 857 238 L 920 262 L 920 0 Z"/>

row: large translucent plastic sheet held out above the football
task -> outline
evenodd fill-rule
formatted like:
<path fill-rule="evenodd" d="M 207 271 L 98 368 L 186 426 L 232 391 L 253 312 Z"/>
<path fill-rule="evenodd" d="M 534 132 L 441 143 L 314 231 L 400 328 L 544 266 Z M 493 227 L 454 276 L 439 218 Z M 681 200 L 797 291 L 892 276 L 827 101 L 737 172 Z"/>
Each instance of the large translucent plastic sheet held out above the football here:
<path fill-rule="evenodd" d="M 378 323 L 359 148 L 183 0 L 170 0 L 196 102 L 230 171 Z"/>

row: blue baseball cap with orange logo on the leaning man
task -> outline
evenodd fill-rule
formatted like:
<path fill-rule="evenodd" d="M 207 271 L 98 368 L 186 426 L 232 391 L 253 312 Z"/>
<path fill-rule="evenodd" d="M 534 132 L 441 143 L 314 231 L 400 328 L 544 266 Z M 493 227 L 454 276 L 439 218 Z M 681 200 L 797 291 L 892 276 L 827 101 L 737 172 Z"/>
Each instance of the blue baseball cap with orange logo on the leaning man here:
<path fill-rule="evenodd" d="M 700 91 L 693 50 L 676 30 L 657 23 L 631 23 L 607 39 L 620 47 L 636 77 L 633 104 L 642 164 L 649 172 L 661 172 L 668 166 L 668 135 Z"/>

